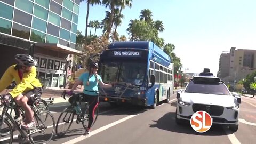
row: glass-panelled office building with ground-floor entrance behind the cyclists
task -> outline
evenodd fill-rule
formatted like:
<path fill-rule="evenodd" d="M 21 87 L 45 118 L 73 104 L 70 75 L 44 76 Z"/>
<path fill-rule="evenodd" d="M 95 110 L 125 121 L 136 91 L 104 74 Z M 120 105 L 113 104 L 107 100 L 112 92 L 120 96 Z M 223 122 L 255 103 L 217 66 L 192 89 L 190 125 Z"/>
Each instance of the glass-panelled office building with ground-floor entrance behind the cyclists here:
<path fill-rule="evenodd" d="M 49 87 L 63 85 L 67 57 L 77 53 L 79 4 L 79 0 L 0 0 L 0 52 L 12 62 L 17 53 L 34 55 L 38 78 L 48 79 Z"/>

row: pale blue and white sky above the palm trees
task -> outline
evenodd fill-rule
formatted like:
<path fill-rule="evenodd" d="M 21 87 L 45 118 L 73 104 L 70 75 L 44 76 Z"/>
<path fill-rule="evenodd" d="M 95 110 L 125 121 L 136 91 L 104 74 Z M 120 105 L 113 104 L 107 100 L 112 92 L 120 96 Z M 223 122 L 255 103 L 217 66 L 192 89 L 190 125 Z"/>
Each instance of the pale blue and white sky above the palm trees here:
<path fill-rule="evenodd" d="M 131 9 L 122 10 L 125 18 L 117 32 L 128 36 L 129 21 L 139 19 L 140 11 L 149 9 L 153 20 L 163 21 L 165 30 L 158 36 L 175 45 L 182 71 L 200 73 L 210 68 L 217 76 L 222 51 L 230 51 L 231 47 L 256 50 L 255 5 L 255 0 L 133 0 Z M 105 11 L 109 9 L 103 5 L 90 6 L 89 21 L 101 21 Z M 83 35 L 86 12 L 87 3 L 82 2 L 77 29 Z M 102 30 L 96 34 L 101 35 Z"/>

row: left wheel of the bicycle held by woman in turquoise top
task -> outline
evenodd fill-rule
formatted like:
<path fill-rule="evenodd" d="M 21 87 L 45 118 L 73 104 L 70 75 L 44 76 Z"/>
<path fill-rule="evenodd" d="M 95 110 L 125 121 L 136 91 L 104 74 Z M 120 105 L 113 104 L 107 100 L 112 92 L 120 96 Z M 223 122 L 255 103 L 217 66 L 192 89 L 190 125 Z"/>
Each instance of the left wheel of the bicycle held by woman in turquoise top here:
<path fill-rule="evenodd" d="M 56 134 L 58 137 L 63 137 L 69 130 L 71 124 L 73 123 L 74 109 L 71 107 L 65 108 L 60 114 L 57 124 L 56 124 Z"/>

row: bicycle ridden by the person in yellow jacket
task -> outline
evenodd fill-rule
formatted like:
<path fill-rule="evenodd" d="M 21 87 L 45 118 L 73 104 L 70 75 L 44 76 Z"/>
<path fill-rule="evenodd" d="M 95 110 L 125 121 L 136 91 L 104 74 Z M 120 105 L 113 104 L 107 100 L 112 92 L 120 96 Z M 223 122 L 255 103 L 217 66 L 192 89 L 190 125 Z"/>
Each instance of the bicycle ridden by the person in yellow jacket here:
<path fill-rule="evenodd" d="M 0 100 L 2 101 L 4 95 L 0 95 Z M 0 137 L 0 143 L 12 143 L 13 141 L 13 127 L 11 123 L 20 133 L 21 140 L 25 142 L 30 140 L 32 143 L 49 143 L 53 137 L 55 130 L 55 121 L 53 115 L 48 110 L 39 110 L 35 105 L 30 106 L 34 112 L 34 119 L 36 123 L 36 129 L 34 130 L 23 130 L 20 125 L 13 119 L 13 117 L 7 113 L 8 109 L 16 109 L 18 105 L 14 104 L 14 101 L 3 101 L 0 107 L 3 107 L 3 113 L 0 117 L 1 126 L 7 125 L 1 132 L 9 132 L 9 134 Z M 11 123 L 10 123 L 11 122 Z M 49 124 L 48 124 L 49 123 Z M 50 129 L 52 128 L 52 130 Z M 50 132 L 46 134 L 46 132 Z M 37 135 L 38 134 L 38 135 Z M 9 137 L 10 136 L 10 137 Z M 47 139 L 46 139 L 47 137 Z M 45 140 L 46 139 L 46 140 Z"/>

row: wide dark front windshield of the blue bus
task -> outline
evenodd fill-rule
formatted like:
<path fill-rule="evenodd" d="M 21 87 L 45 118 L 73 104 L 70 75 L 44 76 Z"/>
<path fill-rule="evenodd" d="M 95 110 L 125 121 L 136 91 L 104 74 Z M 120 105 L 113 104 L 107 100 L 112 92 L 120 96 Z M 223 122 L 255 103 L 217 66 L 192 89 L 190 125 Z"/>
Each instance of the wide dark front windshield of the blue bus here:
<path fill-rule="evenodd" d="M 100 75 L 103 82 L 125 82 L 142 85 L 146 74 L 146 62 L 105 61 L 101 63 Z"/>

